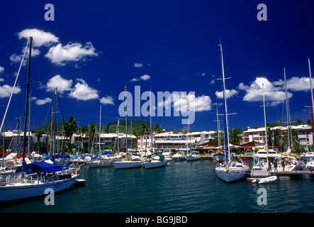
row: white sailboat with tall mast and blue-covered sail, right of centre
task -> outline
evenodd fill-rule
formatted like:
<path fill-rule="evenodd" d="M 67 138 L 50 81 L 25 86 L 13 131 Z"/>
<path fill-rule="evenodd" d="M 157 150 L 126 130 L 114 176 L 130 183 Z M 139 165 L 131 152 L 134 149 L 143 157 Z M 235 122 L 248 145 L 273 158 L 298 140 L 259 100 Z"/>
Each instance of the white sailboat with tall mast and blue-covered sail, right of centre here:
<path fill-rule="evenodd" d="M 228 128 L 228 108 L 227 100 L 225 96 L 225 72 L 223 68 L 223 45 L 220 43 L 220 54 L 221 54 L 221 64 L 223 72 L 223 99 L 225 106 L 225 162 L 223 165 L 220 163 L 218 167 L 215 167 L 216 175 L 219 179 L 225 182 L 234 182 L 238 179 L 247 177 L 249 172 L 249 167 L 243 164 L 242 160 L 240 162 L 235 162 L 230 160 L 230 143 L 229 143 L 229 128 Z"/>

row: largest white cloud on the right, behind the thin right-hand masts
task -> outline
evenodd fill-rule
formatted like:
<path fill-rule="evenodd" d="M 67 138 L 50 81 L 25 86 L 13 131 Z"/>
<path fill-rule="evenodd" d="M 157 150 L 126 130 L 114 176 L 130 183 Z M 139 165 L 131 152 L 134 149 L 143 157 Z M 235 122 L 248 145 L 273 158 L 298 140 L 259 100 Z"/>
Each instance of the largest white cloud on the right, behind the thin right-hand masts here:
<path fill-rule="evenodd" d="M 238 89 L 247 92 L 243 97 L 243 101 L 263 101 L 263 93 L 265 101 L 271 102 L 271 106 L 276 106 L 286 99 L 286 92 L 283 88 L 275 87 L 266 77 L 257 77 L 249 86 L 241 82 Z M 288 99 L 291 97 L 292 94 L 288 92 Z"/>

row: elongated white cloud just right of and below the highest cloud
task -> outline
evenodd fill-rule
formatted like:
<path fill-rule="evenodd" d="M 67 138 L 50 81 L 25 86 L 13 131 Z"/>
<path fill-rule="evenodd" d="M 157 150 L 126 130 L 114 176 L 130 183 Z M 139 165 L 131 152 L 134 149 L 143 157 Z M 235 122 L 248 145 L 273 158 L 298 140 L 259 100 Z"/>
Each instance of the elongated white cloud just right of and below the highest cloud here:
<path fill-rule="evenodd" d="M 81 43 L 69 43 L 65 46 L 59 43 L 51 47 L 45 57 L 49 58 L 52 63 L 63 66 L 65 62 L 77 62 L 84 57 L 97 55 L 98 53 L 96 53 L 96 49 L 91 42 L 85 43 L 84 46 Z"/>

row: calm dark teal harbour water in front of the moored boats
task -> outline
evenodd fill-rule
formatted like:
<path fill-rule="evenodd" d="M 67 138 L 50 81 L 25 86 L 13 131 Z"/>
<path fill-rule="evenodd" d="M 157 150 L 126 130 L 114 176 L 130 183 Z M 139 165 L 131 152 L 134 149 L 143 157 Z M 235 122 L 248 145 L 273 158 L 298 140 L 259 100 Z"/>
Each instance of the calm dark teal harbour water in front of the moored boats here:
<path fill-rule="evenodd" d="M 314 212 L 314 177 L 279 177 L 274 184 L 246 180 L 228 184 L 215 175 L 212 160 L 172 162 L 158 169 L 115 170 L 83 166 L 85 186 L 44 198 L 1 204 L 1 213 L 277 213 Z M 267 204 L 259 205 L 266 189 Z"/>

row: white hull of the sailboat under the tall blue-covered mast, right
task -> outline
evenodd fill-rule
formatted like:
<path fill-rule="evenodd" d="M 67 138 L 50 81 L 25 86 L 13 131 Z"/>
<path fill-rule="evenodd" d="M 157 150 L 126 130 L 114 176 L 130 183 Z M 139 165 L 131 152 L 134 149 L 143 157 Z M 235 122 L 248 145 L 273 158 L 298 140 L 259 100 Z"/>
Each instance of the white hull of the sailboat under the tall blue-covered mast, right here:
<path fill-rule="evenodd" d="M 239 179 L 247 177 L 249 168 L 248 167 L 235 167 L 235 168 L 216 167 L 215 172 L 219 179 L 222 179 L 225 182 L 235 182 Z"/>

